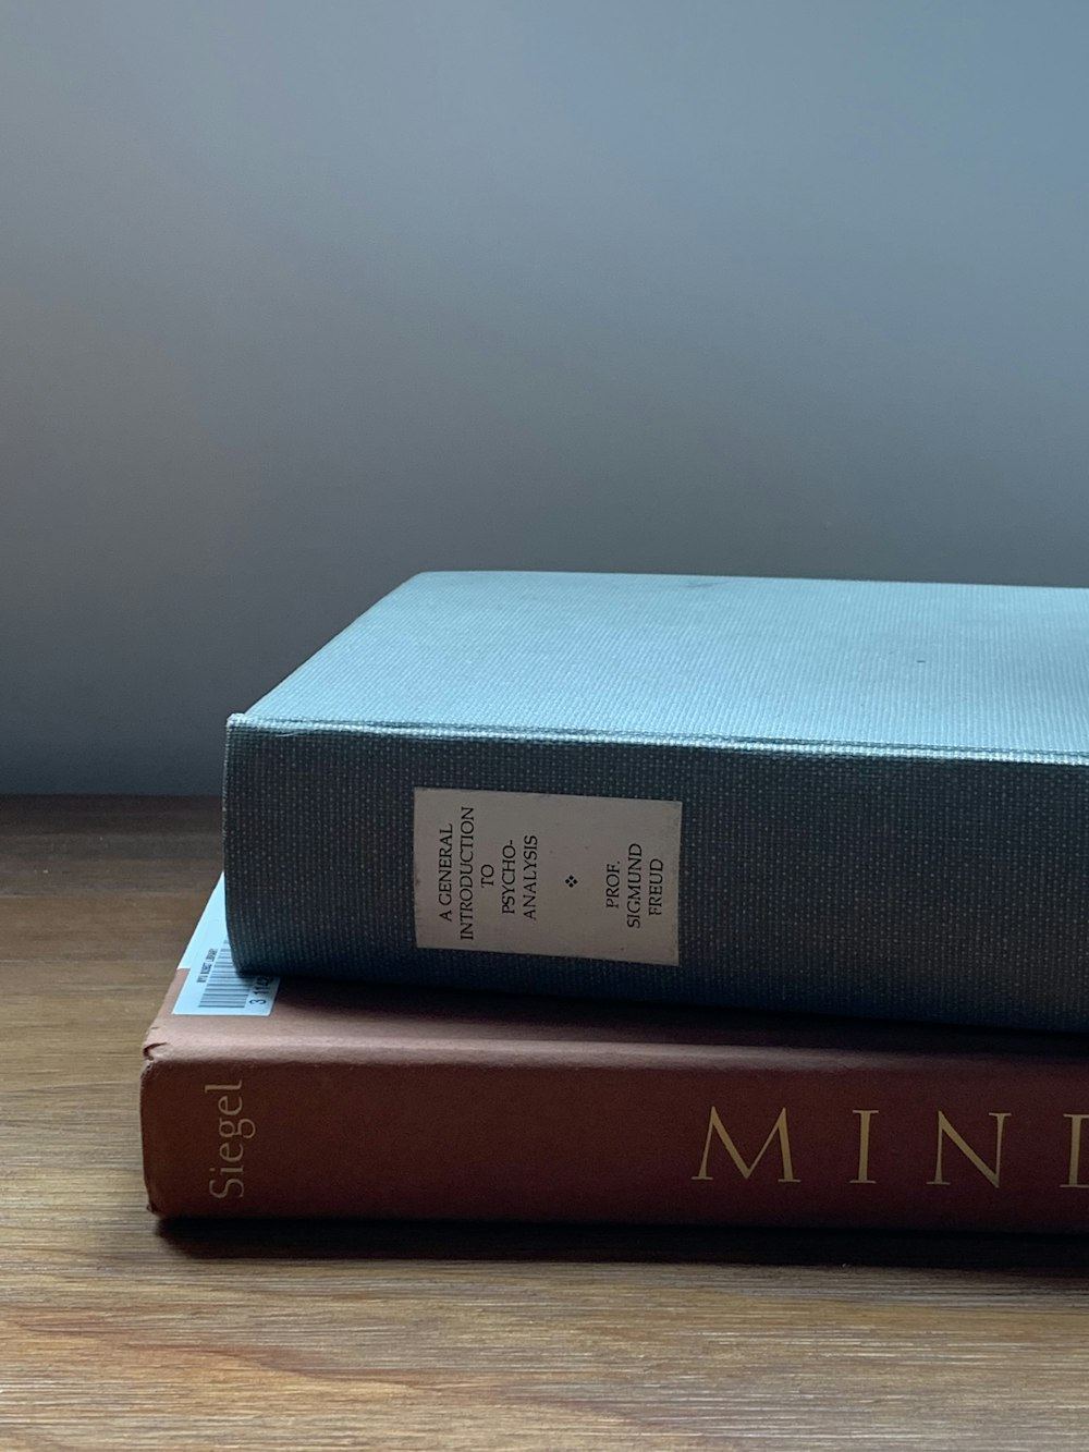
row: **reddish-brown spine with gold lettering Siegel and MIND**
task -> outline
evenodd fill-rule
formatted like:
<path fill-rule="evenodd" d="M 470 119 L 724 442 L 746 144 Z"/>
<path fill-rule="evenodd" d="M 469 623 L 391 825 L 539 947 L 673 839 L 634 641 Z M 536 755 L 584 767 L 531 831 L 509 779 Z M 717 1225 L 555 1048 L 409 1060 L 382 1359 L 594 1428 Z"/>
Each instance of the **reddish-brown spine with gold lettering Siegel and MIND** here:
<path fill-rule="evenodd" d="M 171 1217 L 1089 1225 L 1069 1057 L 151 1045 L 141 1108 Z"/>

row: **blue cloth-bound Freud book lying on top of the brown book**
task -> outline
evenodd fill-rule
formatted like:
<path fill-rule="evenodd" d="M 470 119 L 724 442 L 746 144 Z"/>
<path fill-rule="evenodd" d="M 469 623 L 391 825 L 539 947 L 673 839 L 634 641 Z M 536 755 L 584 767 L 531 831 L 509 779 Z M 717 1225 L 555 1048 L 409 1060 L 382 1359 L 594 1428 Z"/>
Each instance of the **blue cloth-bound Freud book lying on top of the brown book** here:
<path fill-rule="evenodd" d="M 427 574 L 231 717 L 242 971 L 1089 1029 L 1089 591 Z"/>

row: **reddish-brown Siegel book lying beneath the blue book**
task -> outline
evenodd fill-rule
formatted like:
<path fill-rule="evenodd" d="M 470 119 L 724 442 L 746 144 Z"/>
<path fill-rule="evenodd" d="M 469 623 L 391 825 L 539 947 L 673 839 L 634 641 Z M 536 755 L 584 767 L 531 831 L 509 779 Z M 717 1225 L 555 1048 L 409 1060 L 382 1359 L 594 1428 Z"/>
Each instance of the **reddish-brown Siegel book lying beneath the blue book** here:
<path fill-rule="evenodd" d="M 160 1215 L 1080 1231 L 1089 1043 L 240 979 L 216 894 L 144 1045 Z"/>

